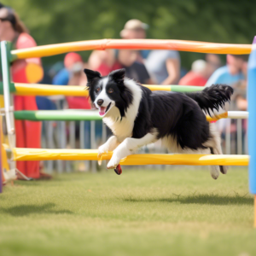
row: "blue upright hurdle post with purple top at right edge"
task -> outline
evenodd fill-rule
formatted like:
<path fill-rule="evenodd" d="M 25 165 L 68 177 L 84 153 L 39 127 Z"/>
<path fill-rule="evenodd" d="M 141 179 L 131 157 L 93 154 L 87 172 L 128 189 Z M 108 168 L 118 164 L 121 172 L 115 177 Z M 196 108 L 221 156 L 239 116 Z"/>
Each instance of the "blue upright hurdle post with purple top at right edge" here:
<path fill-rule="evenodd" d="M 254 227 L 256 228 L 256 36 L 253 39 L 253 48 L 248 61 L 248 149 L 250 155 L 249 189 L 254 195 Z"/>

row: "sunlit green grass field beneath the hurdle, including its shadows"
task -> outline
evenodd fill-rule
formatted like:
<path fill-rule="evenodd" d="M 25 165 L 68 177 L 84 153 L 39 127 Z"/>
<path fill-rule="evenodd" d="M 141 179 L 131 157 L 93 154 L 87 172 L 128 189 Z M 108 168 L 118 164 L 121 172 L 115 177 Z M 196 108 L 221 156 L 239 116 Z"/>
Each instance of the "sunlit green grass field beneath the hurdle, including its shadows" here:
<path fill-rule="evenodd" d="M 0 255 L 256 255 L 247 168 L 73 173 L 0 195 Z"/>

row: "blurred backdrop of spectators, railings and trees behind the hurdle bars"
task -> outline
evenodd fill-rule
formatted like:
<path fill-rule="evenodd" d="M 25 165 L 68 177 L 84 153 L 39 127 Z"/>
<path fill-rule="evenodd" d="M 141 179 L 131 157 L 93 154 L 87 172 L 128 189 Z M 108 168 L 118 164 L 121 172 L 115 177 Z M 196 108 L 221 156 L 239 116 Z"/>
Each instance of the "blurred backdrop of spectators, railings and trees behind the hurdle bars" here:
<path fill-rule="evenodd" d="M 203 0 L 148 0 L 143 1 L 49 1 L 6 0 L 3 5 L 13 9 L 0 9 L 0 40 L 13 43 L 13 49 L 45 44 L 58 44 L 102 38 L 157 38 L 183 39 L 226 44 L 252 44 L 256 16 L 249 2 Z M 13 11 L 18 16 L 14 21 Z M 20 22 L 25 29 L 17 29 Z M 5 32 L 5 33 L 4 33 Z M 14 35 L 9 36 L 9 35 Z M 84 51 L 38 59 L 37 65 L 44 75 L 37 81 L 22 78 L 18 61 L 12 66 L 13 80 L 21 83 L 85 86 L 83 69 L 97 70 L 108 75 L 124 67 L 126 76 L 141 84 L 180 84 L 210 86 L 229 84 L 235 89 L 230 110 L 247 110 L 247 55 L 213 55 L 176 50 L 116 50 Z M 35 60 L 32 60 L 35 61 Z M 73 96 L 22 98 L 15 96 L 16 110 L 90 109 L 90 99 Z M 27 102 L 30 101 L 28 104 Z M 23 102 L 23 103 L 21 103 Z M 26 104 L 27 103 L 27 104 Z M 19 106 L 19 107 L 18 107 Z M 26 124 L 29 121 L 25 121 Z M 39 123 L 39 122 L 38 122 Z M 20 125 L 20 126 L 19 126 Z M 225 154 L 247 154 L 247 120 L 224 119 L 217 122 L 222 134 Z M 24 126 L 24 125 L 23 125 Z M 102 121 L 43 122 L 42 127 L 31 123 L 32 131 L 15 123 L 17 146 L 27 148 L 97 148 L 111 135 Z M 28 125 L 25 125 L 28 127 Z M 37 126 L 37 127 L 36 127 Z M 37 131 L 35 141 L 29 137 Z M 19 137 L 22 142 L 19 143 Z M 23 137 L 27 142 L 23 143 Z M 37 143 L 36 143 L 37 140 Z M 143 149 L 160 151 L 154 144 Z M 88 163 L 87 163 L 88 164 Z M 18 169 L 38 170 L 39 166 Z M 23 165 L 23 167 L 22 167 Z M 64 166 L 63 166 L 64 165 Z M 92 166 L 70 166 L 70 162 L 52 161 L 47 170 L 57 168 L 96 170 Z M 39 175 L 39 174 L 37 174 Z M 37 176 L 38 177 L 38 176 Z"/>

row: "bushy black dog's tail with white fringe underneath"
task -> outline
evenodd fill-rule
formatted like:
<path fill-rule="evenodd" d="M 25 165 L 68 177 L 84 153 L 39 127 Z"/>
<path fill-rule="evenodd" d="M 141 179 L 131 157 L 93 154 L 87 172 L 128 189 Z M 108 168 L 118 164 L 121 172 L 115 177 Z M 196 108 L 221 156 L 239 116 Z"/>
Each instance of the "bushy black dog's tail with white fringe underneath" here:
<path fill-rule="evenodd" d="M 221 109 L 227 111 L 226 103 L 230 103 L 230 96 L 233 94 L 233 88 L 225 84 L 212 84 L 199 92 L 186 93 L 187 96 L 195 100 L 199 107 L 212 116 Z"/>

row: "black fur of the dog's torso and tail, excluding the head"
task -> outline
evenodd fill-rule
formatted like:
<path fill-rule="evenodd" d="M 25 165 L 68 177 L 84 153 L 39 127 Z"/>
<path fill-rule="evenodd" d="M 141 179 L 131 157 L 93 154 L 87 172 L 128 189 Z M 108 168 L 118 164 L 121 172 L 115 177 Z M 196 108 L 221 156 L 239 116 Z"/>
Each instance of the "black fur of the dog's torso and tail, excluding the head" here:
<path fill-rule="evenodd" d="M 205 148 L 203 143 L 211 136 L 209 122 L 201 110 L 211 114 L 209 110 L 223 108 L 224 102 L 230 102 L 233 93 L 230 86 L 220 84 L 186 94 L 151 91 L 143 86 L 141 89 L 143 99 L 132 137 L 143 137 L 156 128 L 159 139 L 172 135 L 181 148 L 190 149 Z"/>

